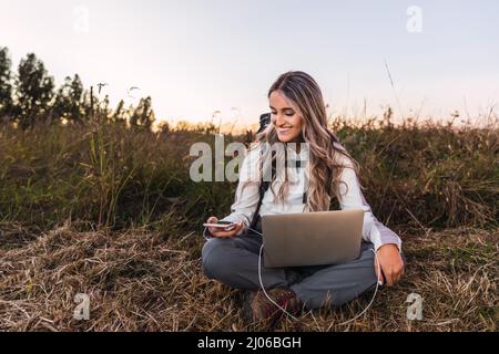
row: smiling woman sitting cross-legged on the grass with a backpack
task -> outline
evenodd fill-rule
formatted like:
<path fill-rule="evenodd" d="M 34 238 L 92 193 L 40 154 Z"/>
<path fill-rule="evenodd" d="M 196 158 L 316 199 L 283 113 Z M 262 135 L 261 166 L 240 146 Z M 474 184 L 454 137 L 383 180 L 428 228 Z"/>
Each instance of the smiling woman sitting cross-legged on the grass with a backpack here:
<path fill-rule="evenodd" d="M 245 316 L 248 321 L 267 323 L 275 323 L 282 315 L 273 302 L 297 314 L 303 308 L 342 305 L 373 288 L 378 280 L 386 281 L 388 287 L 397 283 L 404 273 L 401 241 L 374 217 L 366 202 L 357 178 L 357 162 L 327 128 L 326 107 L 317 83 L 304 72 L 287 72 L 272 85 L 268 100 L 272 123 L 257 135 L 255 146 L 245 157 L 232 214 L 223 219 L 237 222 L 237 227 L 231 231 L 205 229 L 204 273 L 232 288 L 247 290 L 243 306 Z M 308 159 L 306 164 L 299 164 L 305 168 L 286 168 L 284 178 L 273 176 L 257 218 L 272 214 L 329 210 L 330 196 L 337 198 L 342 209 L 365 210 L 358 259 L 335 266 L 263 268 L 262 281 L 273 302 L 259 290 L 262 237 L 248 230 L 259 200 L 261 176 L 265 174 L 262 163 L 265 160 L 263 156 L 268 154 L 268 149 L 267 153 L 263 149 L 265 143 L 302 143 L 296 144 L 303 148 L 296 149 L 294 157 L 303 160 L 308 156 Z M 292 149 L 289 152 L 293 154 Z M 216 217 L 207 220 L 217 221 Z M 259 222 L 257 225 L 261 230 Z M 373 250 L 379 260 L 381 274 L 377 274 Z"/>

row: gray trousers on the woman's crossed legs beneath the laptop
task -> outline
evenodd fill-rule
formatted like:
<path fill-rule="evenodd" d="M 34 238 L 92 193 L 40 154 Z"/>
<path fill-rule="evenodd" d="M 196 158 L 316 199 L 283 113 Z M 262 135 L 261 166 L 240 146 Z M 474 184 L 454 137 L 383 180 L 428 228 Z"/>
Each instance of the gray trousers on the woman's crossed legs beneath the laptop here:
<path fill-rule="evenodd" d="M 202 251 L 204 274 L 231 288 L 259 289 L 258 256 L 262 242 L 261 236 L 246 232 L 230 239 L 208 239 Z M 262 282 L 265 290 L 293 290 L 307 310 L 342 305 L 376 285 L 373 249 L 373 243 L 363 241 L 358 259 L 335 266 L 262 267 Z"/>

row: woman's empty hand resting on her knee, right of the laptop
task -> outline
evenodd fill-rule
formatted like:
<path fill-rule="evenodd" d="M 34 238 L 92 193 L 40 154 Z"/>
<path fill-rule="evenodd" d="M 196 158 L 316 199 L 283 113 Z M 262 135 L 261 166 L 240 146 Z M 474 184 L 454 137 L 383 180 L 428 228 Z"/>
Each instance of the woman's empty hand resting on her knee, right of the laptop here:
<path fill-rule="evenodd" d="M 377 259 L 381 266 L 388 287 L 395 285 L 404 275 L 404 260 L 396 244 L 384 244 L 377 251 Z M 383 275 L 378 273 L 378 263 L 375 259 L 375 271 L 378 279 L 383 282 Z"/>

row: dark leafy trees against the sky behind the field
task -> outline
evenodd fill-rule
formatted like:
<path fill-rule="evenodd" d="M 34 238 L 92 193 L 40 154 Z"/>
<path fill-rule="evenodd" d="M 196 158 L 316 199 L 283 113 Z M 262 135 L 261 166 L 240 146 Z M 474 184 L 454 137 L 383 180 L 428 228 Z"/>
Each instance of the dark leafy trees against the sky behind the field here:
<path fill-rule="evenodd" d="M 28 129 L 38 122 L 84 125 L 92 119 L 151 129 L 155 116 L 150 96 L 136 106 L 125 107 L 122 100 L 112 108 L 109 95 L 100 100 L 78 74 L 55 87 L 53 76 L 34 53 L 21 59 L 14 73 L 9 49 L 0 46 L 0 123 Z"/>

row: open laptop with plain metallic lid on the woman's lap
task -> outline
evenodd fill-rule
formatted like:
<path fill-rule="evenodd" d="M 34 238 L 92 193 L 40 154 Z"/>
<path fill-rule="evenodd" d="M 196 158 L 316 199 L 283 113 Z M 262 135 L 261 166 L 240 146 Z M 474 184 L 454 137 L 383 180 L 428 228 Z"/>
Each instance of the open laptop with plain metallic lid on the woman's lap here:
<path fill-rule="evenodd" d="M 262 217 L 264 267 L 338 264 L 360 257 L 363 209 Z"/>

